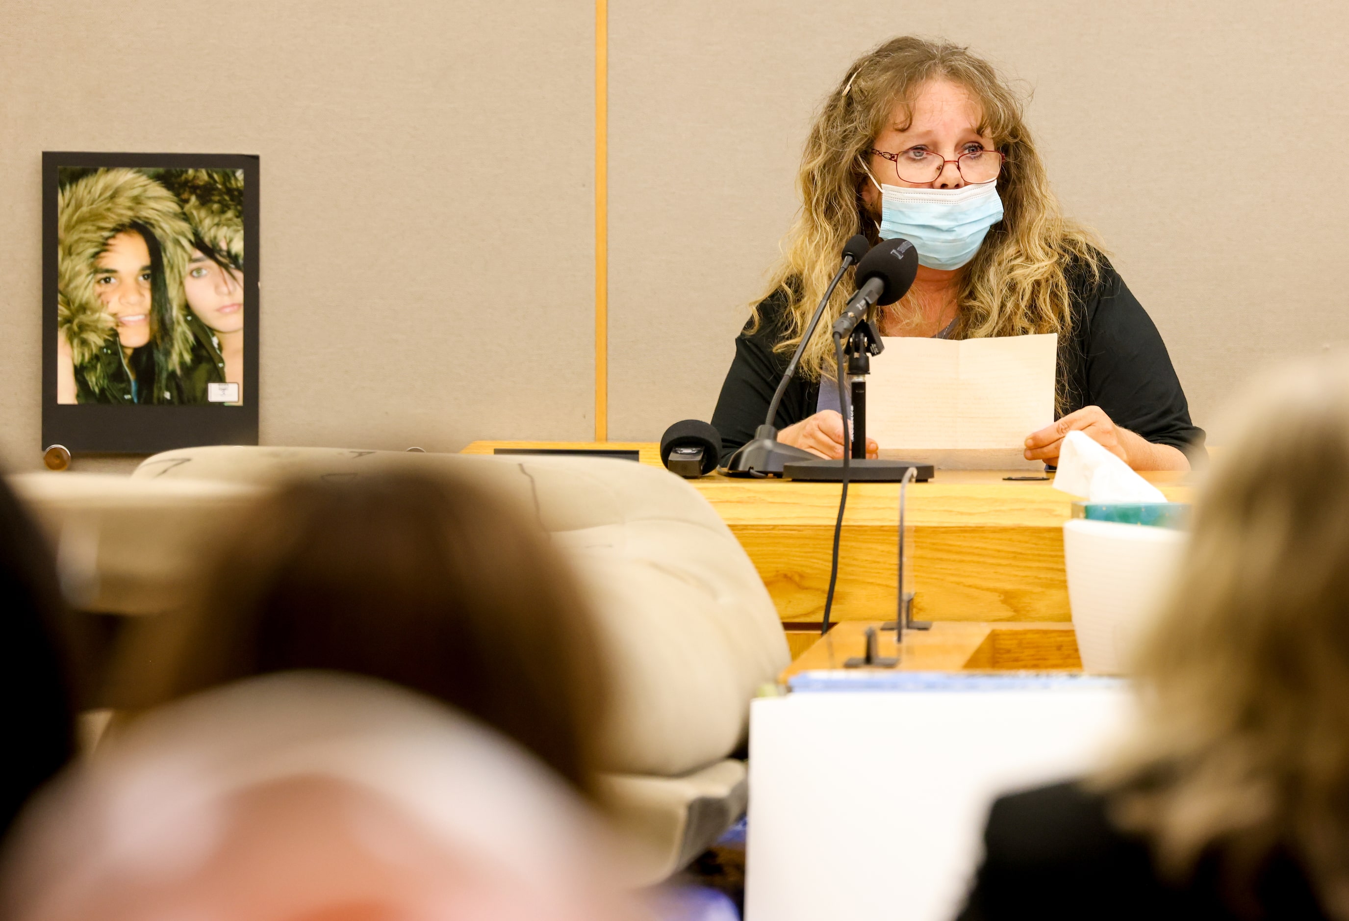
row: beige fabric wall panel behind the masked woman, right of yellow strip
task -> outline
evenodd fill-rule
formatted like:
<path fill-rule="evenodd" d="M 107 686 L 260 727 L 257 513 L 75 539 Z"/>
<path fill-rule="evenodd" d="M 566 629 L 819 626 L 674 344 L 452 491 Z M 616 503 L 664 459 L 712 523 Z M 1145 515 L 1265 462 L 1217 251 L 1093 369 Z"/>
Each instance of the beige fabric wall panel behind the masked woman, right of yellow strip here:
<path fill-rule="evenodd" d="M 1103 235 L 1213 425 L 1255 365 L 1349 338 L 1346 30 L 1333 3 L 612 3 L 611 437 L 711 417 L 812 111 L 902 32 L 1033 89 L 1067 212 Z"/>

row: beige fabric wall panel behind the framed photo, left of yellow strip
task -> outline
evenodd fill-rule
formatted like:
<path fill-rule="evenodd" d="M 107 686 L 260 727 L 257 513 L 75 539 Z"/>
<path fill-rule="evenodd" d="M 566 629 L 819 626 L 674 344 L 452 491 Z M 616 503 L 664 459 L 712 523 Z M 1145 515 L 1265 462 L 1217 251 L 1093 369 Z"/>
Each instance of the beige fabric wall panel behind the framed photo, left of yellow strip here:
<path fill-rule="evenodd" d="M 260 155 L 264 444 L 591 437 L 592 3 L 0 9 L 9 467 L 40 463 L 43 150 Z"/>

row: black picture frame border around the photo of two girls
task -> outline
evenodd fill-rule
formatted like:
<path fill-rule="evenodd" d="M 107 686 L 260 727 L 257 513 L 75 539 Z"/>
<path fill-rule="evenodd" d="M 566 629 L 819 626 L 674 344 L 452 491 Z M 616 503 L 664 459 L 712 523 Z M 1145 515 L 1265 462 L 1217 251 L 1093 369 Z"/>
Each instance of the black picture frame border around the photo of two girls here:
<path fill-rule="evenodd" d="M 113 406 L 57 403 L 57 193 L 61 167 L 220 169 L 244 174 L 244 399 L 241 406 Z M 251 154 L 42 154 L 42 449 L 63 445 L 71 454 L 152 454 L 198 445 L 256 445 L 258 156 Z"/>

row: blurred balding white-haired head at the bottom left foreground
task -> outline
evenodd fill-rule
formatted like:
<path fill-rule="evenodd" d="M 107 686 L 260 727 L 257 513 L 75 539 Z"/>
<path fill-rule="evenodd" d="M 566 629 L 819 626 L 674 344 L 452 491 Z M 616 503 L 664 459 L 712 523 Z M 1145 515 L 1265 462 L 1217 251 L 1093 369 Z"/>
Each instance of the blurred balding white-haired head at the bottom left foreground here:
<path fill-rule="evenodd" d="M 18 827 L 22 921 L 633 917 L 602 832 L 496 734 L 332 673 L 237 682 L 136 720 Z"/>

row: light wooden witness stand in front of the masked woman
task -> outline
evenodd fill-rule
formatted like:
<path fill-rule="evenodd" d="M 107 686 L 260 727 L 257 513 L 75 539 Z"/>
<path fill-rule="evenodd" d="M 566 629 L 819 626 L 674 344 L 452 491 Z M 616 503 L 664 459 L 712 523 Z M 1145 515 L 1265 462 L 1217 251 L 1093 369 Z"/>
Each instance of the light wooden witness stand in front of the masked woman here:
<path fill-rule="evenodd" d="M 490 454 L 495 448 L 626 448 L 639 450 L 643 464 L 661 463 L 657 445 L 650 442 L 475 441 L 464 453 Z M 1025 475 L 1025 471 L 1012 473 Z M 938 471 L 932 481 L 909 485 L 913 618 L 932 620 L 934 630 L 928 639 L 908 634 L 905 649 L 911 642 L 954 638 L 944 622 L 965 622 L 985 631 L 970 649 L 973 654 L 993 634 L 1010 649 L 1006 643 L 1012 641 L 1001 636 L 1008 624 L 1060 624 L 1056 628 L 1063 630 L 1062 624 L 1071 620 L 1063 570 L 1063 522 L 1071 515 L 1072 498 L 1048 481 L 1004 480 L 1008 475 L 1006 471 Z M 1143 476 L 1171 502 L 1193 498 L 1186 473 Z M 746 480 L 716 473 L 689 484 L 716 508 L 754 562 L 784 626 L 792 631 L 789 638 L 796 641 L 793 655 L 805 651 L 817 636 L 809 630 L 817 631 L 824 612 L 838 484 Z M 859 655 L 862 647 L 861 628 L 855 628 L 854 636 L 849 622 L 880 623 L 894 618 L 897 518 L 898 484 L 849 487 L 832 612 L 849 630 L 831 631 L 831 636 L 836 635 L 835 646 L 849 645 L 847 655 Z M 893 650 L 893 639 L 882 642 Z M 969 638 L 960 642 L 967 643 Z M 1021 642 L 1032 643 L 1029 638 Z M 1072 646 L 1075 658 L 1075 641 Z M 1044 667 L 1070 667 L 1054 666 L 1054 661 L 1063 659 L 1050 657 Z M 962 661 L 951 667 L 966 665 Z"/>

